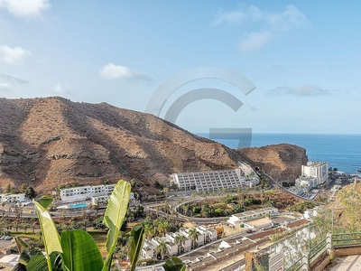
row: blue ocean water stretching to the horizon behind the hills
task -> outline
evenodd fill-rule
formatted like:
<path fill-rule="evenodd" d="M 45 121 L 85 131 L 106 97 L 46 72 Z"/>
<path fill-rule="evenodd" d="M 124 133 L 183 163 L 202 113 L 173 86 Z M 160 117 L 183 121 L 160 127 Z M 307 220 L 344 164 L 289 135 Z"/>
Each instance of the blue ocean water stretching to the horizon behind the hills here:
<path fill-rule="evenodd" d="M 209 138 L 208 134 L 199 135 Z M 233 149 L 238 146 L 234 139 L 213 140 Z M 252 147 L 282 143 L 304 147 L 309 161 L 328 162 L 329 167 L 350 174 L 361 170 L 361 135 L 252 134 Z"/>

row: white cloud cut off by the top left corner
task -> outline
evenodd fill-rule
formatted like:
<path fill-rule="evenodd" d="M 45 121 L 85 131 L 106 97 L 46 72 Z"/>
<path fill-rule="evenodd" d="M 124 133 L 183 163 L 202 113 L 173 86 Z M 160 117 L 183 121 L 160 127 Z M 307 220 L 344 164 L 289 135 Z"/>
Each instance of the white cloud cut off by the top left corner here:
<path fill-rule="evenodd" d="M 49 0 L 0 0 L 0 8 L 21 18 L 39 17 L 50 6 Z"/>

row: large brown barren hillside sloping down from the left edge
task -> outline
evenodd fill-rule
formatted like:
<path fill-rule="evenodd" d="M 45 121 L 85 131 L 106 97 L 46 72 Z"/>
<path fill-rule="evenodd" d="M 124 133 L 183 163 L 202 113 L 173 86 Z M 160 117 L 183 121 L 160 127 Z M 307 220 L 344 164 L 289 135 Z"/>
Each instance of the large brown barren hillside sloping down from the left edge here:
<path fill-rule="evenodd" d="M 244 157 L 158 117 L 106 103 L 0 98 L 0 108 L 3 187 L 28 183 L 49 192 L 66 182 L 119 178 L 152 184 L 174 172 L 231 168 Z"/>

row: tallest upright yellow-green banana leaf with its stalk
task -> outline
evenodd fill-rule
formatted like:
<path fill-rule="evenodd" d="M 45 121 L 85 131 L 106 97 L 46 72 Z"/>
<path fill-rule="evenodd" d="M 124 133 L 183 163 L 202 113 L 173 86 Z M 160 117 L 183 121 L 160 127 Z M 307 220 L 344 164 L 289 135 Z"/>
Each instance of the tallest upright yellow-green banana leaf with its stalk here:
<path fill-rule="evenodd" d="M 106 206 L 103 223 L 109 229 L 106 238 L 106 250 L 108 255 L 104 262 L 103 271 L 109 270 L 112 262 L 116 240 L 119 235 L 119 229 L 122 227 L 125 219 L 125 213 L 128 208 L 131 185 L 125 181 L 116 183 Z"/>

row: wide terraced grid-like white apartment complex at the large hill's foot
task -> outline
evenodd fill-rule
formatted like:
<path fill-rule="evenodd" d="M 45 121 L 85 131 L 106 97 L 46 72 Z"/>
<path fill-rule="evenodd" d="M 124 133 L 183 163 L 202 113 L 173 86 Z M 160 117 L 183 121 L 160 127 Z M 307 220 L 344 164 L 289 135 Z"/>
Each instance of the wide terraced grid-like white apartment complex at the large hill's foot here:
<path fill-rule="evenodd" d="M 176 184 L 180 191 L 197 192 L 252 187 L 259 183 L 259 177 L 251 166 L 245 163 L 238 165 L 234 170 L 173 173 L 171 183 Z"/>

